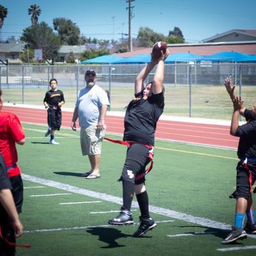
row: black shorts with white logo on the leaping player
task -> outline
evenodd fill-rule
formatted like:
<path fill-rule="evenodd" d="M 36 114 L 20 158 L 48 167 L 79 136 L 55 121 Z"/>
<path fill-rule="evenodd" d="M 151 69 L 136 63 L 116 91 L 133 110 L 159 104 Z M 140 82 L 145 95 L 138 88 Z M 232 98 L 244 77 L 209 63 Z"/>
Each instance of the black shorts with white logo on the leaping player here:
<path fill-rule="evenodd" d="M 140 143 L 134 143 L 127 148 L 124 168 L 119 180 L 127 180 L 136 185 L 144 183 L 145 176 L 139 180 L 135 179 L 138 174 L 145 172 L 149 163 L 148 153 L 148 148 Z"/>

